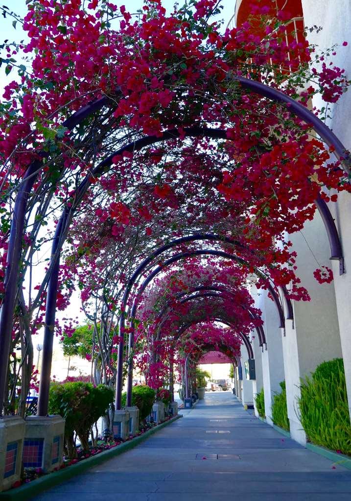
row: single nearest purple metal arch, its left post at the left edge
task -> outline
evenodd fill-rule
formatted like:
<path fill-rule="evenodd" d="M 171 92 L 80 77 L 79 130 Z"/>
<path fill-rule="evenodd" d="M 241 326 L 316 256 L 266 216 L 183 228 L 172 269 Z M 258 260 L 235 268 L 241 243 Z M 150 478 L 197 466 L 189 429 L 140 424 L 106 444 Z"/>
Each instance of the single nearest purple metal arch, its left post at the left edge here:
<path fill-rule="evenodd" d="M 333 145 L 335 150 L 334 154 L 337 158 L 343 160 L 343 166 L 345 170 L 349 173 L 349 165 L 350 165 L 350 157 L 346 148 L 342 145 L 342 143 L 337 139 L 337 137 L 332 133 L 332 131 L 321 121 L 319 120 L 312 112 L 310 112 L 303 105 L 293 100 L 289 96 L 286 96 L 280 91 L 276 89 L 272 89 L 260 82 L 256 82 L 254 80 L 244 79 L 241 77 L 236 77 L 236 80 L 246 89 L 249 89 L 252 92 L 256 92 L 257 94 L 267 97 L 273 101 L 279 103 L 285 103 L 289 110 L 295 113 L 301 120 L 306 122 L 307 124 L 311 124 L 313 129 L 318 133 L 323 141 L 326 144 Z M 118 89 L 119 91 L 119 89 Z M 81 123 L 86 117 L 91 115 L 95 111 L 99 111 L 103 106 L 108 103 L 106 97 L 102 97 L 98 100 L 94 100 L 92 103 L 84 106 L 76 113 L 74 113 L 70 118 L 68 118 L 65 122 L 63 122 L 63 126 L 68 129 L 72 129 L 77 124 Z M 36 162 L 36 161 L 35 161 Z M 11 231 L 10 240 L 9 240 L 9 249 L 15 250 L 20 246 L 20 255 L 17 252 L 14 252 L 13 259 L 8 260 L 6 274 L 5 274 L 5 297 L 3 301 L 3 305 L 0 312 L 0 416 L 3 411 L 3 403 L 4 403 L 4 394 L 5 394 L 5 383 L 6 383 L 6 375 L 7 375 L 7 365 L 9 358 L 9 349 L 10 349 L 10 340 L 11 340 L 11 332 L 12 332 L 12 319 L 13 312 L 16 301 L 16 286 L 17 286 L 17 277 L 19 273 L 20 266 L 20 258 L 21 258 L 21 243 L 23 237 L 23 229 L 24 229 L 24 220 L 27 206 L 27 198 L 28 194 L 31 191 L 33 184 L 36 179 L 36 170 L 34 167 L 35 162 L 33 162 L 25 175 L 24 182 L 20 188 L 17 198 L 19 201 L 15 203 L 14 208 L 14 216 L 12 218 L 12 226 L 17 226 L 18 230 L 22 229 L 22 232 L 19 231 Z M 27 179 L 27 182 L 26 182 Z M 22 199 L 22 200 L 21 200 Z M 23 203 L 24 202 L 24 203 Z M 319 209 L 319 206 L 317 204 Z M 324 211 L 324 209 L 323 209 Z M 328 238 L 330 242 L 330 238 L 333 242 L 336 242 L 335 248 L 338 246 L 337 241 L 339 242 L 339 236 L 336 231 L 336 227 L 334 221 L 330 220 L 329 217 L 323 219 L 324 223 L 327 224 L 326 228 L 328 232 Z M 335 235 L 336 231 L 336 235 Z M 335 240 L 336 238 L 336 240 Z M 341 249 L 341 245 L 340 245 Z M 331 252 L 332 256 L 335 256 L 333 259 L 342 259 L 342 254 L 336 257 L 334 252 Z M 341 267 L 340 267 L 341 271 Z M 343 271 L 343 267 L 342 267 Z M 43 357 L 44 358 L 44 357 Z M 5 361 L 5 364 L 3 363 Z M 46 377 L 46 375 L 44 376 Z M 49 375 L 50 378 L 50 375 Z"/>

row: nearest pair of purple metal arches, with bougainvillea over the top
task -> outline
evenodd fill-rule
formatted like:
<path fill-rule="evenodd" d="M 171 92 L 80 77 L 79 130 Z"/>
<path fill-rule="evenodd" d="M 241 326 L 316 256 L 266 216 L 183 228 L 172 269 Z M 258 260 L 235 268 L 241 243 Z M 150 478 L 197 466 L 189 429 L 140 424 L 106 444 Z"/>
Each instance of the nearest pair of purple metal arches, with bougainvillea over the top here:
<path fill-rule="evenodd" d="M 270 88 L 269 86 L 262 84 L 260 82 L 256 82 L 253 80 L 245 79 L 242 77 L 235 77 L 233 79 L 238 81 L 239 84 L 252 92 L 256 92 L 257 94 L 266 97 L 270 100 L 273 100 L 278 103 L 284 103 L 289 107 L 289 110 L 292 111 L 296 116 L 298 116 L 301 120 L 303 120 L 307 124 L 311 124 L 312 128 L 319 134 L 321 139 L 329 146 L 334 147 L 334 154 L 338 159 L 343 160 L 343 166 L 345 170 L 349 173 L 349 164 L 350 157 L 347 153 L 346 148 L 342 145 L 342 143 L 337 139 L 337 137 L 332 133 L 332 131 L 321 121 L 319 120 L 311 111 L 305 108 L 302 104 L 298 103 L 294 99 L 286 96 L 284 93 Z M 117 92 L 121 93 L 120 89 L 117 89 Z M 81 110 L 74 113 L 69 119 L 63 122 L 63 126 L 72 130 L 76 125 L 81 123 L 86 117 L 90 116 L 95 111 L 99 111 L 108 103 L 107 99 L 101 98 L 99 100 L 94 101 L 93 103 L 84 106 Z M 223 132 L 219 131 L 218 132 Z M 166 134 L 166 133 L 164 133 Z M 142 140 L 149 143 L 150 138 L 142 138 Z M 158 138 L 160 140 L 160 138 Z M 155 141 L 156 142 L 156 141 Z M 133 143 L 134 144 L 134 143 Z M 127 149 L 124 149 L 127 151 Z M 115 155 L 116 153 L 114 153 Z M 106 159 L 104 162 L 110 162 L 110 159 Z M 100 164 L 99 168 L 105 167 L 107 164 Z M 21 252 L 22 252 L 22 237 L 24 233 L 24 223 L 25 223 L 25 213 L 27 207 L 27 201 L 29 194 L 33 188 L 33 185 L 38 177 L 38 173 L 40 172 L 43 166 L 39 160 L 35 160 L 28 168 L 24 180 L 21 183 L 21 187 L 19 193 L 17 195 L 14 214 L 11 222 L 11 231 L 10 231 L 10 239 L 9 239 L 9 247 L 8 247 L 8 260 L 7 260 L 7 268 L 5 275 L 5 298 L 2 304 L 1 312 L 0 312 L 0 411 L 2 412 L 2 406 L 4 401 L 4 393 L 5 393 L 5 382 L 6 382 L 6 374 L 7 374 L 7 363 L 10 351 L 10 341 L 11 341 L 11 331 L 12 331 L 12 319 L 13 312 L 15 309 L 15 301 L 16 301 L 16 291 L 17 291 L 17 281 L 18 274 L 20 268 L 20 260 L 21 260 Z M 85 189 L 89 186 L 89 177 L 87 176 L 85 180 L 82 182 L 81 186 L 84 185 Z M 84 194 L 84 189 L 82 186 L 82 191 L 78 192 L 78 195 Z M 79 196 L 78 196 L 79 199 Z M 319 209 L 319 206 L 322 207 L 322 211 L 324 214 L 323 222 L 326 225 L 326 231 L 329 239 L 329 244 L 331 248 L 331 259 L 339 259 L 342 260 L 342 250 L 341 244 L 338 237 L 338 233 L 336 230 L 336 226 L 331 217 L 331 214 L 322 200 L 316 200 L 316 205 Z M 319 209 L 320 210 L 320 209 Z M 49 379 L 50 381 L 50 370 L 49 375 L 46 374 L 48 368 L 51 368 L 51 357 L 52 357 L 52 341 L 53 341 L 53 329 L 55 324 L 55 311 L 53 313 L 54 308 L 56 309 L 56 292 L 55 284 L 57 285 L 57 271 L 59 268 L 60 261 L 60 248 L 65 239 L 67 233 L 67 227 L 70 222 L 70 218 L 72 218 L 72 212 L 69 208 L 66 207 L 63 215 L 63 219 L 60 220 L 60 224 L 57 227 L 57 231 L 55 233 L 55 238 L 53 242 L 53 260 L 51 263 L 51 276 L 48 285 L 48 306 L 47 309 L 48 315 L 46 316 L 46 334 L 45 334 L 45 344 L 43 351 L 43 363 L 44 360 L 49 360 L 50 362 L 47 364 L 45 371 L 43 371 L 43 389 L 45 387 L 45 392 L 47 392 L 47 383 L 46 381 Z M 343 273 L 343 268 L 342 270 Z M 56 276 L 55 276 L 56 275 Z M 50 292 L 50 296 L 49 296 Z M 55 296 L 55 297 L 54 297 Z M 54 318 L 54 322 L 52 322 Z M 42 399 L 41 399 L 42 400 Z M 47 409 L 45 409 L 40 403 L 38 408 L 38 413 L 40 415 L 46 415 Z M 46 406 L 47 407 L 47 406 Z"/>

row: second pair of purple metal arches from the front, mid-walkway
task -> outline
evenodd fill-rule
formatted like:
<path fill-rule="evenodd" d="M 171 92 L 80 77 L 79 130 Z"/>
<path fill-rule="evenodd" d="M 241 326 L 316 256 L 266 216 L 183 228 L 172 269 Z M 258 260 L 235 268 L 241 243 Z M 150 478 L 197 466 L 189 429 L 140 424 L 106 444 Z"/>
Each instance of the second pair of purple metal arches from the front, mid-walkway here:
<path fill-rule="evenodd" d="M 208 237 L 209 235 L 206 235 L 206 236 Z M 184 238 L 190 238 L 190 237 L 184 237 Z M 180 238 L 179 240 L 184 240 L 184 238 Z M 202 235 L 201 239 L 208 239 L 208 238 L 204 238 L 204 235 Z M 216 239 L 218 239 L 217 236 L 216 236 Z M 174 241 L 177 241 L 177 240 L 174 240 Z M 171 245 L 171 244 L 168 244 L 167 246 L 164 245 L 163 247 L 170 248 L 169 245 Z M 156 251 L 157 256 L 162 253 L 162 251 L 160 249 L 162 249 L 163 247 L 160 247 Z M 154 255 L 156 253 L 154 253 Z M 244 266 L 247 266 L 246 261 L 242 260 L 241 258 L 238 258 L 237 256 L 233 256 L 232 254 L 223 252 L 221 250 L 214 250 L 214 249 L 203 250 L 203 249 L 201 249 L 201 250 L 193 250 L 191 252 L 189 251 L 189 252 L 177 254 L 177 255 L 173 256 L 172 258 L 168 259 L 163 264 L 163 266 L 159 266 L 158 268 L 156 268 L 152 273 L 150 273 L 150 275 L 141 284 L 141 286 L 138 290 L 138 294 L 136 295 L 134 302 L 133 302 L 133 305 L 132 305 L 132 308 L 131 308 L 130 318 L 131 319 L 135 318 L 136 310 L 137 310 L 137 307 L 139 304 L 139 296 L 145 291 L 148 284 L 151 282 L 151 280 L 153 280 L 156 277 L 156 275 L 158 273 L 160 273 L 161 271 L 163 271 L 165 269 L 165 267 L 171 265 L 172 263 L 175 263 L 176 261 L 179 261 L 181 259 L 188 258 L 188 257 L 201 256 L 201 255 L 218 256 L 218 257 L 222 257 L 225 259 L 237 261 L 238 263 L 240 263 Z M 123 333 L 125 332 L 125 313 L 124 312 L 125 312 L 125 308 L 127 306 L 129 291 L 132 289 L 133 284 L 135 283 L 135 281 L 137 280 L 139 275 L 143 272 L 143 270 L 145 269 L 147 264 L 149 264 L 149 262 L 150 262 L 150 257 L 147 258 L 138 267 L 138 269 L 136 270 L 136 272 L 134 273 L 134 275 L 130 279 L 130 287 L 128 287 L 128 286 L 126 287 L 125 294 L 123 296 L 123 301 L 122 301 L 123 308 L 122 308 L 122 313 L 120 316 L 120 323 L 119 323 L 119 332 L 120 332 L 120 334 L 122 334 L 122 336 L 120 337 L 120 342 L 118 345 L 118 358 L 117 358 L 116 409 L 118 409 L 118 410 L 121 409 L 121 406 L 122 406 L 123 351 L 124 351 Z M 144 266 L 144 263 L 146 263 L 145 266 Z M 139 270 L 139 273 L 137 274 L 138 270 Z M 257 270 L 256 270 L 256 274 L 258 276 L 262 276 L 262 274 Z M 279 320 L 280 320 L 279 327 L 283 328 L 284 327 L 284 314 L 283 314 L 283 309 L 281 307 L 281 304 L 279 302 L 279 297 L 270 284 L 268 285 L 268 290 L 273 298 L 273 301 L 274 301 L 276 308 L 277 308 L 277 311 L 278 311 L 278 316 L 279 316 Z M 129 342 L 128 342 L 128 352 L 130 355 L 129 355 L 129 368 L 128 368 L 127 406 L 130 405 L 129 402 L 131 402 L 131 398 L 132 398 L 131 392 L 132 392 L 133 362 L 131 360 L 131 358 L 132 358 L 131 353 L 132 353 L 133 345 L 134 345 L 134 325 L 133 325 L 133 322 L 131 321 L 130 331 L 129 331 Z"/>

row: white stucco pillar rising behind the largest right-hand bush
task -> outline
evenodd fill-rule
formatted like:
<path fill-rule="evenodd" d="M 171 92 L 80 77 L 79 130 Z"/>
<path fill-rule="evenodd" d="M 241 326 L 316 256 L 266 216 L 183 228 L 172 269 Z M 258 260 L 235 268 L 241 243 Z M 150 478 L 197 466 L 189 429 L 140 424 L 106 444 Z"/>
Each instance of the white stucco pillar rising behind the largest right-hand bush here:
<path fill-rule="evenodd" d="M 318 264 L 329 264 L 329 244 L 319 213 L 290 239 L 297 252 L 296 275 L 311 298 L 293 302 L 294 321 L 286 321 L 282 338 L 290 433 L 304 443 L 297 410 L 300 378 L 309 376 L 321 362 L 340 357 L 341 345 L 333 283 L 321 285 L 313 277 Z"/>

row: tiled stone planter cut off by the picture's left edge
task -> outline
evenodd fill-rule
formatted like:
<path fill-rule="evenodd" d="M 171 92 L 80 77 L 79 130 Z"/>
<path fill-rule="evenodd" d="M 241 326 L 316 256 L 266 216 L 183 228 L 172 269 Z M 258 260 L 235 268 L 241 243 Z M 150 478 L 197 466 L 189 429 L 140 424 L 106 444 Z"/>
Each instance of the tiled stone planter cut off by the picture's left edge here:
<path fill-rule="evenodd" d="M 25 427 L 20 416 L 0 418 L 0 490 L 20 479 Z"/>

